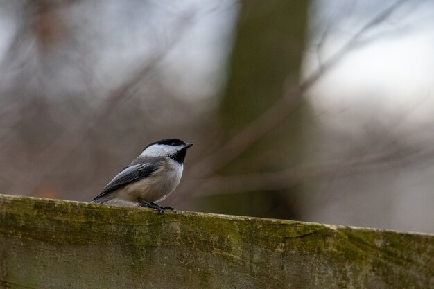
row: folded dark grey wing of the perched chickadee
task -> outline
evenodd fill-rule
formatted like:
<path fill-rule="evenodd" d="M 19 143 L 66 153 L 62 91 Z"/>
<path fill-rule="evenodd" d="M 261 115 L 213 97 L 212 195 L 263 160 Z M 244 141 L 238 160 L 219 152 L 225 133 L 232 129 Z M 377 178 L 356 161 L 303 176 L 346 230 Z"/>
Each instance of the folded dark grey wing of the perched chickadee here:
<path fill-rule="evenodd" d="M 98 202 L 98 199 L 103 198 L 105 195 L 116 189 L 119 189 L 125 184 L 137 182 L 139 179 L 148 177 L 153 172 L 155 172 L 157 168 L 157 164 L 150 163 L 134 164 L 132 166 L 127 166 L 126 168 L 121 170 L 121 172 L 117 174 L 116 177 L 114 177 L 114 179 L 112 179 L 110 183 L 107 184 L 107 186 L 104 187 L 103 191 L 101 191 L 101 193 L 97 195 L 94 200 L 92 200 L 92 202 Z"/>

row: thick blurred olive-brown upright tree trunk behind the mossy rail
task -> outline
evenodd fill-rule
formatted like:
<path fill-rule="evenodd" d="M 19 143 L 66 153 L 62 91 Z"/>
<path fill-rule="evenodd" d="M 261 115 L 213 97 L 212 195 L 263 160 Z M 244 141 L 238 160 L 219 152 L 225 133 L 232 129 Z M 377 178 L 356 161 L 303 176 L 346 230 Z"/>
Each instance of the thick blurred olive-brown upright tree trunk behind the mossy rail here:
<path fill-rule="evenodd" d="M 299 79 L 306 33 L 307 1 L 243 1 L 220 103 L 223 131 L 230 138 L 284 95 Z M 297 108 L 288 120 L 223 169 L 223 174 L 272 171 L 300 161 L 301 122 Z M 224 192 L 222 192 L 224 193 Z M 225 213 L 296 218 L 295 189 L 218 195 L 209 202 Z M 217 209 L 214 207 L 213 209 Z"/>

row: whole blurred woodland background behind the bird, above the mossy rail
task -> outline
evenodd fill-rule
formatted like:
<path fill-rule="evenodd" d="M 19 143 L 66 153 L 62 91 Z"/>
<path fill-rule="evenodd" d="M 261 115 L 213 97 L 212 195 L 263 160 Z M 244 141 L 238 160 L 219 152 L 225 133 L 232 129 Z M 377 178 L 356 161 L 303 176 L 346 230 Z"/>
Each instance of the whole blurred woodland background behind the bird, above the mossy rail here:
<path fill-rule="evenodd" d="M 434 232 L 434 3 L 0 2 L 0 191 L 90 201 L 195 146 L 179 210 Z"/>

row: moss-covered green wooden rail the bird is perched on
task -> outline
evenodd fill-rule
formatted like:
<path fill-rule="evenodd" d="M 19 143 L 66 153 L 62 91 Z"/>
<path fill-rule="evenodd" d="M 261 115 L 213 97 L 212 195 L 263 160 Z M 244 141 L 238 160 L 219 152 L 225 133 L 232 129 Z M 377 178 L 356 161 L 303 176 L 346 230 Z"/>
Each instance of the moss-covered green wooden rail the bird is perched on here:
<path fill-rule="evenodd" d="M 0 195 L 1 288 L 434 288 L 434 236 Z"/>

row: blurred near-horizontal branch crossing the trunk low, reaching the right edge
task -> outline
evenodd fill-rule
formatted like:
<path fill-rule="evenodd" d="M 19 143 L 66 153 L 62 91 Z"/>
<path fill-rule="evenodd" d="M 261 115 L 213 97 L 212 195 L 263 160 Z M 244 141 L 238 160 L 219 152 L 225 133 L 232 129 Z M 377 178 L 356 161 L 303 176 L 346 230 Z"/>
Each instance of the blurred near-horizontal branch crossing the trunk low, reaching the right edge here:
<path fill-rule="evenodd" d="M 209 177 L 189 182 L 200 186 L 191 193 L 192 197 L 205 197 L 224 193 L 241 193 L 260 190 L 290 189 L 307 181 L 346 177 L 360 173 L 388 170 L 392 166 L 405 166 L 434 155 L 431 148 L 397 149 L 381 152 L 377 155 L 355 157 L 347 161 L 328 161 L 319 164 L 301 164 L 291 168 L 265 173 L 250 173 Z"/>

